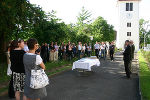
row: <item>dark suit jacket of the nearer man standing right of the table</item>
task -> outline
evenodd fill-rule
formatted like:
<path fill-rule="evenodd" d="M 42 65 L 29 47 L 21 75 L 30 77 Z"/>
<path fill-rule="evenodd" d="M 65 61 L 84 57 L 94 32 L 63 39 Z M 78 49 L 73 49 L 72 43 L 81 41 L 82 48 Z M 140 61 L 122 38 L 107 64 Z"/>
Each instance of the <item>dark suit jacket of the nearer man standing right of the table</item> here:
<path fill-rule="evenodd" d="M 130 60 L 131 60 L 131 46 L 130 45 L 128 45 L 125 48 L 123 55 L 124 55 L 123 60 L 126 62 L 130 62 Z"/>

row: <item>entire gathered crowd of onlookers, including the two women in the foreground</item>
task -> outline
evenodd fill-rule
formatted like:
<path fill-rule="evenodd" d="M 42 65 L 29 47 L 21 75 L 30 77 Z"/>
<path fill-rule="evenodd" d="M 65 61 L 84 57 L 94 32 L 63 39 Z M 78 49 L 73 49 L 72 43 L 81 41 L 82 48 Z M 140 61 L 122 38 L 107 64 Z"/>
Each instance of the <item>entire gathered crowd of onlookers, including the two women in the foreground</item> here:
<path fill-rule="evenodd" d="M 67 44 L 51 42 L 44 43 L 39 46 L 38 41 L 34 38 L 28 41 L 21 39 L 13 40 L 8 48 L 8 62 L 11 80 L 9 83 L 9 97 L 20 100 L 20 94 L 23 92 L 23 100 L 40 100 L 47 95 L 46 88 L 32 89 L 30 88 L 31 69 L 33 66 L 39 66 L 45 69 L 44 63 L 58 60 L 72 60 L 76 57 L 92 56 L 92 51 L 95 51 L 95 56 L 98 59 L 106 59 L 110 54 L 110 59 L 113 61 L 115 51 L 114 42 L 96 42 L 93 47 L 91 43 L 78 42 L 78 44 L 68 42 Z M 94 52 L 93 52 L 94 53 Z"/>

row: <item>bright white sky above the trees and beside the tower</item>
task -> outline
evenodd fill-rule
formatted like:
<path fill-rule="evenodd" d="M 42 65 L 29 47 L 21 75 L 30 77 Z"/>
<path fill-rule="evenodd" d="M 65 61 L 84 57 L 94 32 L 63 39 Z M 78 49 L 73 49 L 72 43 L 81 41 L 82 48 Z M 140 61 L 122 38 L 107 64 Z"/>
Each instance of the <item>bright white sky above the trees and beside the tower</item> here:
<path fill-rule="evenodd" d="M 37 4 L 46 12 L 55 10 L 57 17 L 65 23 L 75 23 L 77 16 L 84 6 L 92 13 L 92 18 L 102 16 L 109 24 L 118 27 L 117 0 L 30 0 L 30 3 Z M 150 0 L 141 0 L 140 18 L 150 20 Z"/>

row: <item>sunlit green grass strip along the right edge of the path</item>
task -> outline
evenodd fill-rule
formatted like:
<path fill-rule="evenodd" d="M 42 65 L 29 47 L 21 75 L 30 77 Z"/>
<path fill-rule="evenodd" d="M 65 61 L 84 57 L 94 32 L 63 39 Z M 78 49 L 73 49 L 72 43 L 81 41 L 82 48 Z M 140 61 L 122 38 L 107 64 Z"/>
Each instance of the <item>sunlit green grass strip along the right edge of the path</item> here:
<path fill-rule="evenodd" d="M 143 100 L 150 100 L 150 69 L 148 67 L 147 60 L 140 51 L 139 66 L 140 66 L 140 88 L 142 92 Z"/>

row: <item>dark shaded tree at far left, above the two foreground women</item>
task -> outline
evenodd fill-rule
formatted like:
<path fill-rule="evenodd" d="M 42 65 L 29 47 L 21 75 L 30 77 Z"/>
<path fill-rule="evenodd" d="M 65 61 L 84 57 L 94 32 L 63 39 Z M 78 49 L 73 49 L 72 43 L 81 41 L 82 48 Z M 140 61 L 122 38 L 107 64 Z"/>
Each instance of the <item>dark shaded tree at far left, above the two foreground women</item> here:
<path fill-rule="evenodd" d="M 2 0 L 0 2 L 0 61 L 4 62 L 3 55 L 6 50 L 6 43 L 12 38 L 12 34 L 18 38 L 27 23 L 26 0 Z M 15 31 L 15 32 L 14 32 Z"/>

